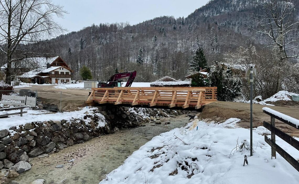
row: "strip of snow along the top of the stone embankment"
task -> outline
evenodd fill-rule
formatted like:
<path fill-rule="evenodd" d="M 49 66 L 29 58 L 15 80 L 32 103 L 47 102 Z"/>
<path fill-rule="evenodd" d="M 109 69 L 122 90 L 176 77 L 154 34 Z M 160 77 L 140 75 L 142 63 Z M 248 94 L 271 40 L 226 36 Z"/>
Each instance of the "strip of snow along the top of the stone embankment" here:
<path fill-rule="evenodd" d="M 45 110 L 33 110 L 31 108 L 25 108 L 23 111 L 27 111 L 27 113 L 23 114 L 23 117 L 21 117 L 20 115 L 13 115 L 13 116 L 8 116 L 7 118 L 1 118 L 0 130 L 8 129 L 12 126 L 25 125 L 26 123 L 30 123 L 30 122 L 44 122 L 49 120 L 60 121 L 62 119 L 70 120 L 72 118 L 80 119 L 86 115 L 84 114 L 86 111 L 89 113 L 93 113 L 92 110 L 95 109 L 97 108 L 87 107 L 87 108 L 81 108 L 78 111 L 51 113 L 50 111 L 45 111 Z M 20 112 L 20 110 L 14 110 L 9 112 L 0 111 L 0 114 L 8 114 L 8 113 L 10 114 L 14 112 Z M 97 115 L 104 118 L 102 114 L 97 114 Z M 103 123 L 100 123 L 100 125 L 103 125 Z"/>

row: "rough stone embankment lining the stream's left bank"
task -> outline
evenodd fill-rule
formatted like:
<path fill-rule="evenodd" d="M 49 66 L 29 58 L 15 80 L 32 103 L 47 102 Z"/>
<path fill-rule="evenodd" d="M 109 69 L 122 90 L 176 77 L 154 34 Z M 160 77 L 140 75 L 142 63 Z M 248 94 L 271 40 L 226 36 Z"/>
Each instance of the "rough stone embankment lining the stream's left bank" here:
<path fill-rule="evenodd" d="M 153 117 L 156 120 L 169 114 L 183 113 L 103 106 L 93 110 L 87 109 L 84 114 L 81 119 L 71 118 L 60 121 L 49 119 L 45 122 L 31 122 L 10 127 L 9 130 L 0 130 L 0 184 L 6 183 L 8 178 L 17 177 L 20 173 L 29 170 L 31 168 L 28 163 L 29 157 L 42 157 L 122 128 L 142 126 L 144 122 L 153 122 Z"/>

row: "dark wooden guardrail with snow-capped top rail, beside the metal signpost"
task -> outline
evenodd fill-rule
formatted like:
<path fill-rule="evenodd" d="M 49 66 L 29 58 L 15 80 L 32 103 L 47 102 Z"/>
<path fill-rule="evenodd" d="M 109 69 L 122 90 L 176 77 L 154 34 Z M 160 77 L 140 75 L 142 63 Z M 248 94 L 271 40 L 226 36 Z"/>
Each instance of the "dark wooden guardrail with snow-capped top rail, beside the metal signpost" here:
<path fill-rule="evenodd" d="M 292 136 L 284 133 L 283 131 L 277 129 L 275 127 L 275 119 L 280 120 L 294 128 L 299 129 L 299 120 L 293 117 L 287 116 L 280 112 L 274 111 L 270 108 L 264 107 L 263 112 L 271 116 L 271 124 L 264 121 L 263 126 L 271 131 L 271 139 L 265 136 L 265 141 L 271 146 L 271 159 L 275 157 L 276 159 L 276 152 L 279 153 L 286 161 L 288 161 L 297 171 L 299 171 L 299 162 L 293 158 L 290 154 L 284 151 L 280 146 L 275 143 L 275 135 L 289 143 L 291 146 L 296 148 L 299 151 L 299 141 L 294 139 Z"/>

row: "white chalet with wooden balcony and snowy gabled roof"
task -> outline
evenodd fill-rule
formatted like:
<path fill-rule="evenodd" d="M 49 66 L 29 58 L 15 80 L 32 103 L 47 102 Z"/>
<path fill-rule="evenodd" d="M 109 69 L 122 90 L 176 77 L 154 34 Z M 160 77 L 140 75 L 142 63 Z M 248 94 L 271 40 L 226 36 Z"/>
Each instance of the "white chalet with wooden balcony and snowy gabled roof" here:
<path fill-rule="evenodd" d="M 71 82 L 71 73 L 74 72 L 63 61 L 60 56 L 54 58 L 53 62 L 47 63 L 46 66 L 31 70 L 19 76 L 23 82 L 37 84 L 61 84 Z"/>

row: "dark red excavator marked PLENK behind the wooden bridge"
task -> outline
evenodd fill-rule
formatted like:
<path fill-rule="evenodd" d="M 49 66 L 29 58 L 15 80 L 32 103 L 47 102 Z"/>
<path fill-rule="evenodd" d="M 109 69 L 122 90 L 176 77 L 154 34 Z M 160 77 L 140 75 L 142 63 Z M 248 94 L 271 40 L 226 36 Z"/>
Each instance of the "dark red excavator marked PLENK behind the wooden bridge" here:
<path fill-rule="evenodd" d="M 124 87 L 131 87 L 135 77 L 136 77 L 136 70 L 129 71 L 129 72 L 120 72 L 115 73 L 108 79 L 107 82 L 99 82 L 98 88 L 114 88 L 114 87 L 121 87 L 121 80 L 122 78 L 129 77 L 126 85 Z"/>

